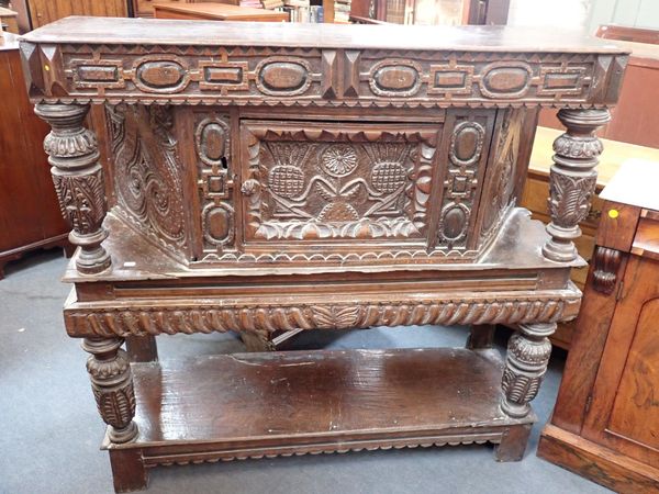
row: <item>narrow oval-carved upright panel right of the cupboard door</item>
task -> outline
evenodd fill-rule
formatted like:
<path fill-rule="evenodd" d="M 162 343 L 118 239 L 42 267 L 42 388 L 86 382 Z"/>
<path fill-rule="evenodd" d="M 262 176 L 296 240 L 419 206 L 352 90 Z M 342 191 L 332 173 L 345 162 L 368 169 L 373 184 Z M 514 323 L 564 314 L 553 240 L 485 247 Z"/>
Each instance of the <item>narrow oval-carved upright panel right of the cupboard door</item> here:
<path fill-rule="evenodd" d="M 490 146 L 493 113 L 453 114 L 445 128 L 442 207 L 435 248 L 473 252 L 473 227 Z"/>

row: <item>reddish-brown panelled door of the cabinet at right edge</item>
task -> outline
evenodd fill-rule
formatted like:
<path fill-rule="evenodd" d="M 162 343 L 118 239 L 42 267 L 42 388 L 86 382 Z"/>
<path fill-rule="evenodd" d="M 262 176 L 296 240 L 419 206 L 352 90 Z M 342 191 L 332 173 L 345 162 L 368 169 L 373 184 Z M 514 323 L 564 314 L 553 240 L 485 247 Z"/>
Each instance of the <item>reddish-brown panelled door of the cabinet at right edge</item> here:
<path fill-rule="evenodd" d="M 659 260 L 632 256 L 584 437 L 659 467 Z"/>

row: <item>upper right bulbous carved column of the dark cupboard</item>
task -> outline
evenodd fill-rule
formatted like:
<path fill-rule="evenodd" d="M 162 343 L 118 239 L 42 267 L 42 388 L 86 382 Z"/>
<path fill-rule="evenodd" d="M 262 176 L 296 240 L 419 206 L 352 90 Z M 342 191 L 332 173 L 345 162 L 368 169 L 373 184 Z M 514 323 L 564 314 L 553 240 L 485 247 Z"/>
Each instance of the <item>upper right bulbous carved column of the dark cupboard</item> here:
<path fill-rule="evenodd" d="M 554 142 L 554 165 L 549 176 L 547 233 L 543 247 L 547 259 L 567 262 L 577 258 L 572 240 L 581 236 L 581 222 L 588 215 L 595 191 L 602 142 L 594 132 L 611 120 L 608 110 L 560 110 L 558 119 L 567 132 Z"/>

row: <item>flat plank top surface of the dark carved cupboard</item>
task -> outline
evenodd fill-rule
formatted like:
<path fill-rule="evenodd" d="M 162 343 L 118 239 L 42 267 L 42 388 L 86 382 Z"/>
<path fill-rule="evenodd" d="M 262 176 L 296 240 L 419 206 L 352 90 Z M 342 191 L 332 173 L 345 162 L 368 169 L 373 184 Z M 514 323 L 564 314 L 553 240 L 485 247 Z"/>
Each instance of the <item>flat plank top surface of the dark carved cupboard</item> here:
<path fill-rule="evenodd" d="M 71 16 L 25 35 L 32 43 L 625 54 L 579 32 L 512 26 L 216 23 Z"/>

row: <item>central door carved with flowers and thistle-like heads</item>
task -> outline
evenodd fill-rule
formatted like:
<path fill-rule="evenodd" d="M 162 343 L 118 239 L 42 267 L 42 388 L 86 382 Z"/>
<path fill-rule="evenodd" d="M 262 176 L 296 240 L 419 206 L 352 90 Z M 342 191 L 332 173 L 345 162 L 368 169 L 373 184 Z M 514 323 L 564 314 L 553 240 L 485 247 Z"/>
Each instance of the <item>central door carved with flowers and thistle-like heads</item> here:
<path fill-rule="evenodd" d="M 246 240 L 424 240 L 437 130 L 244 125 Z"/>

